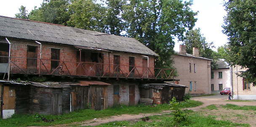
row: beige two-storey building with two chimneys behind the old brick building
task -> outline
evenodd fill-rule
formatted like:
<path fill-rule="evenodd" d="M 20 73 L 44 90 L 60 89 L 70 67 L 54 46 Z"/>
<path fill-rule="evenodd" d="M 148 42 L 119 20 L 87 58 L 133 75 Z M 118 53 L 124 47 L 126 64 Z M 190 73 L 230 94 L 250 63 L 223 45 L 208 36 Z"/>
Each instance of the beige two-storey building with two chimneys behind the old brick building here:
<path fill-rule="evenodd" d="M 172 55 L 173 66 L 177 69 L 179 84 L 186 85 L 185 93 L 191 95 L 211 94 L 211 59 L 199 57 L 198 48 L 193 54 L 186 53 L 186 47 L 180 45 L 180 51 Z"/>

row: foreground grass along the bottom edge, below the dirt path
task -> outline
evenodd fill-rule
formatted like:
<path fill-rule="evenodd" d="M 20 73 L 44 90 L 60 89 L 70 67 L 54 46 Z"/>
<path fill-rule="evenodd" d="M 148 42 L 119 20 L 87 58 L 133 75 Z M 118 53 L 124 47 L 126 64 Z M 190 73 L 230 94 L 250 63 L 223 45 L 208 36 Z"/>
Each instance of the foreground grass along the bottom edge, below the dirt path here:
<path fill-rule="evenodd" d="M 199 114 L 189 114 L 189 122 L 177 123 L 173 125 L 173 116 L 149 116 L 152 122 L 109 122 L 95 127 L 250 127 L 249 124 L 238 124 L 231 121 L 216 120 L 214 116 L 201 116 Z"/>

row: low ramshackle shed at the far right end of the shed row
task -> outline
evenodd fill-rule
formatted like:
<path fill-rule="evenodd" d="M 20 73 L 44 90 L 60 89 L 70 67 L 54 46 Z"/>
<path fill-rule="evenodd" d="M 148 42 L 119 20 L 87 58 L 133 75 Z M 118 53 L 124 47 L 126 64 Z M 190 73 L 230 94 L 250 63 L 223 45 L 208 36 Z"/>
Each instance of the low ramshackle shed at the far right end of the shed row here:
<path fill-rule="evenodd" d="M 173 97 L 182 101 L 187 86 L 174 83 L 143 84 L 139 86 L 140 98 L 149 98 L 155 104 L 169 103 Z"/>

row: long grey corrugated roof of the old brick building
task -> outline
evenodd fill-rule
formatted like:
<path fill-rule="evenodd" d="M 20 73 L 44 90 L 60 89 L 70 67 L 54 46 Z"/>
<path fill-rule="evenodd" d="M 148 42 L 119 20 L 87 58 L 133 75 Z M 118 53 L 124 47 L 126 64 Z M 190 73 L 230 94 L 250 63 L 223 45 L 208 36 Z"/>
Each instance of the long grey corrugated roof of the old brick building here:
<path fill-rule="evenodd" d="M 5 16 L 0 36 L 158 56 L 134 38 Z"/>

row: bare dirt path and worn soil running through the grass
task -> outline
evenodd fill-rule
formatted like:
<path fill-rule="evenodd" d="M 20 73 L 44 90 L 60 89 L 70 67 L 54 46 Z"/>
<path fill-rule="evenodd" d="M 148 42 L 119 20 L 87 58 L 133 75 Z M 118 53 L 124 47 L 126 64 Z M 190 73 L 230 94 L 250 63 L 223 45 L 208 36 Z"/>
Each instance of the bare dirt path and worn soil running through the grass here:
<path fill-rule="evenodd" d="M 196 111 L 202 115 L 208 116 L 216 116 L 217 120 L 229 120 L 235 123 L 243 123 L 243 124 L 250 124 L 251 127 L 256 127 L 256 120 L 253 116 L 256 115 L 256 111 L 245 111 L 245 110 L 232 110 L 232 109 L 225 109 L 222 108 L 221 105 L 226 105 L 227 103 L 234 104 L 237 106 L 256 106 L 256 101 L 229 101 L 228 95 L 213 95 L 213 96 L 204 96 L 204 97 L 194 97 L 191 98 L 195 101 L 203 102 L 203 105 L 187 108 L 189 110 Z M 209 105 L 216 105 L 218 109 L 210 110 L 205 108 Z M 153 113 L 153 114 L 138 114 L 138 115 L 120 115 L 120 116 L 111 116 L 109 118 L 97 118 L 92 119 L 80 123 L 74 124 L 81 124 L 81 126 L 96 126 L 99 124 L 113 122 L 113 121 L 131 121 L 134 122 L 135 120 L 139 121 L 141 118 L 146 116 L 153 116 L 153 115 L 161 115 L 169 113 L 169 111 L 163 111 L 160 113 Z M 150 122 L 150 121 L 149 121 Z M 61 125 L 63 126 L 63 125 Z"/>

